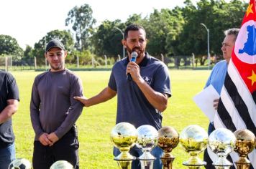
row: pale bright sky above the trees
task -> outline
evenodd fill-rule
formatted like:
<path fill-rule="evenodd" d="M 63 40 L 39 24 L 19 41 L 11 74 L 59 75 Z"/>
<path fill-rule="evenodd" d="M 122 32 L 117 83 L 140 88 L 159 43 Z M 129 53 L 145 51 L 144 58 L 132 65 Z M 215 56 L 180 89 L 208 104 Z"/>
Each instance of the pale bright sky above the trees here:
<path fill-rule="evenodd" d="M 132 14 L 147 16 L 154 9 L 184 6 L 183 0 L 3 0 L 0 2 L 0 34 L 17 39 L 23 49 L 26 45 L 34 47 L 47 32 L 68 29 L 65 26 L 68 11 L 83 4 L 91 6 L 97 25 L 106 19 L 126 21 Z"/>

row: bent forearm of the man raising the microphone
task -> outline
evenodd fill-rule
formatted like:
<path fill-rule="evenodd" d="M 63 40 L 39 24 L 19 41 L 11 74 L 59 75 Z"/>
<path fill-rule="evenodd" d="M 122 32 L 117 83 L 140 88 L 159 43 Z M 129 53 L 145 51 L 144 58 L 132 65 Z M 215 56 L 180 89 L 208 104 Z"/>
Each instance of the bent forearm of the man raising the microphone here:
<path fill-rule="evenodd" d="M 141 77 L 137 79 L 136 84 L 147 98 L 147 101 L 150 102 L 155 109 L 163 112 L 167 108 L 168 97 L 166 95 L 153 90 Z"/>

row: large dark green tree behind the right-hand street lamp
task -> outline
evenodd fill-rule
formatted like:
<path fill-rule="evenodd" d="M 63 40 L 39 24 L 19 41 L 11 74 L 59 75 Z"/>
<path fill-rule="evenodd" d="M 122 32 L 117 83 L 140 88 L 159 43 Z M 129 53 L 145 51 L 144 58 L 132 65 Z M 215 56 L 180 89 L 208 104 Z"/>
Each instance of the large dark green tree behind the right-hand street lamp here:
<path fill-rule="evenodd" d="M 180 55 L 194 53 L 201 64 L 204 64 L 207 54 L 207 32 L 201 26 L 204 23 L 210 30 L 210 53 L 221 54 L 221 42 L 224 30 L 239 27 L 244 14 L 242 1 L 200 0 L 194 6 L 190 0 L 185 1 L 182 9 L 185 24 L 180 33 L 178 51 Z"/>

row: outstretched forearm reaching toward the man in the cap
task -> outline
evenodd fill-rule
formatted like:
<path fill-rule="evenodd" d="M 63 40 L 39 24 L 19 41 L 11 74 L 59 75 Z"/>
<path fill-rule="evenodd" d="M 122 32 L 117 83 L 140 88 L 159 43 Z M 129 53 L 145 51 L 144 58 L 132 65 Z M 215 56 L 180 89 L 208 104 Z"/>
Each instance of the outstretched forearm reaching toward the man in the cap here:
<path fill-rule="evenodd" d="M 88 107 L 92 105 L 97 105 L 101 102 L 106 102 L 116 95 L 116 91 L 111 90 L 109 87 L 106 87 L 98 95 L 88 99 Z"/>

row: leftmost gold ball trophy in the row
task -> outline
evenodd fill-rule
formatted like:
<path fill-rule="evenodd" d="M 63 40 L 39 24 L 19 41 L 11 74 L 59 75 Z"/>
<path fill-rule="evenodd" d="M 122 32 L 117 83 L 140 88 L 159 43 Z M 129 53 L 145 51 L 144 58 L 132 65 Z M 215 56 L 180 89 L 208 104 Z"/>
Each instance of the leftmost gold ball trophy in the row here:
<path fill-rule="evenodd" d="M 120 154 L 114 158 L 119 168 L 131 168 L 134 156 L 129 153 L 130 148 L 135 145 L 137 140 L 136 128 L 128 122 L 119 122 L 111 131 L 111 141 L 116 148 L 120 150 Z"/>

